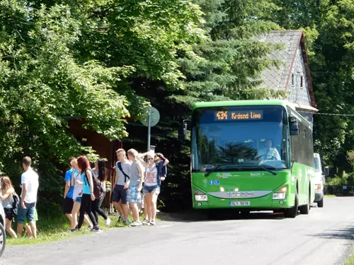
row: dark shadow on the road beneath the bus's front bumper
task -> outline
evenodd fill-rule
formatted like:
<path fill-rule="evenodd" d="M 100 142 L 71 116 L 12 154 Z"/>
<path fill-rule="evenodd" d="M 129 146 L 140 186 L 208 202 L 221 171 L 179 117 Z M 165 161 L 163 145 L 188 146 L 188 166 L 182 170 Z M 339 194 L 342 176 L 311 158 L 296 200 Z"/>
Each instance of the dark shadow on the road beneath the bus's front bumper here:
<path fill-rule="evenodd" d="M 200 211 L 191 211 L 188 213 L 158 213 L 158 218 L 164 221 L 173 221 L 179 223 L 209 222 L 223 220 L 282 220 L 282 213 L 273 212 L 251 212 L 235 213 L 232 211 L 217 211 L 207 214 Z"/>

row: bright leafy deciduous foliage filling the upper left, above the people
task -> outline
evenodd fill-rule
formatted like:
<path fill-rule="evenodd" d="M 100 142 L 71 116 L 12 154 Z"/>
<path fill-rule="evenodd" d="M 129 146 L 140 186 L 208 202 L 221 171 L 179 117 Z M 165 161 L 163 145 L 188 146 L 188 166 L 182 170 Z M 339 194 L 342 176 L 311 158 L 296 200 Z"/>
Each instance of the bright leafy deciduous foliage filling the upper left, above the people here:
<path fill-rule="evenodd" d="M 62 164 L 88 154 L 69 134 L 81 119 L 109 140 L 149 105 L 128 86 L 145 76 L 177 86 L 176 52 L 201 40 L 188 1 L 0 1 L 0 171 L 18 187 L 21 158 L 40 173 L 40 205 L 57 204 Z"/>

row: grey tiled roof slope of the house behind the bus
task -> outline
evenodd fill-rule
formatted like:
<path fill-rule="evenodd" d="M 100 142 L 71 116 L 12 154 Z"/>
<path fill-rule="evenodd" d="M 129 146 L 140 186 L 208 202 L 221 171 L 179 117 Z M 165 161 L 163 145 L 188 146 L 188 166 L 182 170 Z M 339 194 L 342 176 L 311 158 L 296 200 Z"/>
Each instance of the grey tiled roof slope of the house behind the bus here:
<path fill-rule="evenodd" d="M 261 75 L 263 83 L 260 88 L 285 90 L 290 67 L 299 47 L 301 37 L 302 31 L 300 30 L 274 30 L 258 37 L 258 40 L 261 42 L 275 43 L 283 46 L 282 49 L 268 54 L 269 59 L 276 59 L 281 61 L 281 63 L 279 68 L 271 66 L 270 69 L 263 71 Z"/>

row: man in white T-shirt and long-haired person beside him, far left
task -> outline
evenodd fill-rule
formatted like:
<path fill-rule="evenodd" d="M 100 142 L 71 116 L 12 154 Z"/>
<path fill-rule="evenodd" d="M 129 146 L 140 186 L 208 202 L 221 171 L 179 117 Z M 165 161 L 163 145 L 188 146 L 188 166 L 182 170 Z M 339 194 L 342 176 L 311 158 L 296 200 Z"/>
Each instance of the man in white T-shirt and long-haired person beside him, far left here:
<path fill-rule="evenodd" d="M 23 234 L 23 228 L 30 238 L 37 237 L 35 221 L 37 211 L 35 205 L 38 193 L 38 174 L 31 167 L 32 160 L 26 156 L 22 160 L 23 174 L 21 175 L 21 196 L 18 196 L 8 176 L 0 178 L 0 200 L 4 207 L 6 231 L 11 237 Z M 17 214 L 17 235 L 12 228 L 14 216 Z M 25 224 L 25 225 L 24 225 Z"/>

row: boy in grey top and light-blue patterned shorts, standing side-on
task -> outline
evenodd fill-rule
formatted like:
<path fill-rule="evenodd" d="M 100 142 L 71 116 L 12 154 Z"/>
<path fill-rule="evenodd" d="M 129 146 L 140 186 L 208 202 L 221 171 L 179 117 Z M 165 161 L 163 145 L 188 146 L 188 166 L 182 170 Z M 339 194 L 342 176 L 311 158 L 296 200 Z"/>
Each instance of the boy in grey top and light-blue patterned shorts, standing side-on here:
<path fill-rule="evenodd" d="M 142 182 L 144 180 L 142 164 L 137 160 L 137 151 L 130 149 L 127 151 L 128 159 L 132 161 L 130 167 L 130 185 L 127 189 L 127 202 L 132 209 L 134 222 L 131 226 L 140 226 L 142 222 L 139 220 L 139 209 L 137 204 L 141 204 L 140 192 L 142 191 Z"/>

